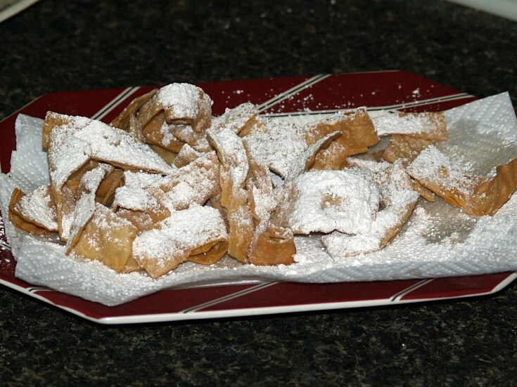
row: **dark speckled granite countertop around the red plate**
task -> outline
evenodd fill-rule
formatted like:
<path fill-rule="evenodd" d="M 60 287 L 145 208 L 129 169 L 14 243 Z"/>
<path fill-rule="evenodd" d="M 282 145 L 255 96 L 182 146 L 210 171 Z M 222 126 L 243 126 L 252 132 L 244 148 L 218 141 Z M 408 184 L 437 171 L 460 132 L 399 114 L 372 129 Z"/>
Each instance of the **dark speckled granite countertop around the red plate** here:
<path fill-rule="evenodd" d="M 170 4 L 168 4 L 170 3 Z M 445 1 L 42 0 L 0 24 L 0 119 L 52 91 L 399 69 L 517 105 L 517 23 Z M 104 327 L 0 287 L 2 384 L 517 384 L 517 286 Z"/>

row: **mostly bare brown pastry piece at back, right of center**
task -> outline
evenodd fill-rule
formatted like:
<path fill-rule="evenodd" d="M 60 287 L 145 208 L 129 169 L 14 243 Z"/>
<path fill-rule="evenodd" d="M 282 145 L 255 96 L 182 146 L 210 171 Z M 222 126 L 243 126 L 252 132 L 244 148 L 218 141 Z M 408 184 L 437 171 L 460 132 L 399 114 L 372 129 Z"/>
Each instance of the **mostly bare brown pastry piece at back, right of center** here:
<path fill-rule="evenodd" d="M 312 169 L 341 169 L 347 157 L 366 152 L 369 146 L 378 143 L 366 107 L 338 112 L 327 119 L 307 124 L 304 129 L 307 145 L 316 143 L 328 133 L 342 133 L 336 141 L 318 153 Z"/>

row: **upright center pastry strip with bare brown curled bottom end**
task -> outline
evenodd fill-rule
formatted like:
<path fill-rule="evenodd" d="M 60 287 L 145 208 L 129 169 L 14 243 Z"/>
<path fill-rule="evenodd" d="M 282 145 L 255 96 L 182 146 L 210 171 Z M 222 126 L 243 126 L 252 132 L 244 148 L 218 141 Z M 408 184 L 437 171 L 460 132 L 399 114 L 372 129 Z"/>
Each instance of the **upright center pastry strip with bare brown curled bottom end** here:
<path fill-rule="evenodd" d="M 293 232 L 270 222 L 277 202 L 269 169 L 254 159 L 246 141 L 244 147 L 250 166 L 246 189 L 255 224 L 248 261 L 254 265 L 294 263 L 296 247 Z"/>

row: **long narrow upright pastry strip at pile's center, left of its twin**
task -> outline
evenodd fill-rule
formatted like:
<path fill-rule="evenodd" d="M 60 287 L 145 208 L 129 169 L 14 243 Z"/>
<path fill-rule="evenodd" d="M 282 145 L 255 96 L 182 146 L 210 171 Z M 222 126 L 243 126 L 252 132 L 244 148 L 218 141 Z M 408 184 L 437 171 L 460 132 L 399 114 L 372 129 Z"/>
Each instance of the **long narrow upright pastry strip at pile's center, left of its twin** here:
<path fill-rule="evenodd" d="M 253 214 L 245 190 L 248 156 L 243 140 L 230 129 L 217 133 L 208 130 L 207 137 L 222 164 L 220 203 L 226 209 L 229 225 L 228 252 L 238 261 L 245 262 L 253 239 Z"/>

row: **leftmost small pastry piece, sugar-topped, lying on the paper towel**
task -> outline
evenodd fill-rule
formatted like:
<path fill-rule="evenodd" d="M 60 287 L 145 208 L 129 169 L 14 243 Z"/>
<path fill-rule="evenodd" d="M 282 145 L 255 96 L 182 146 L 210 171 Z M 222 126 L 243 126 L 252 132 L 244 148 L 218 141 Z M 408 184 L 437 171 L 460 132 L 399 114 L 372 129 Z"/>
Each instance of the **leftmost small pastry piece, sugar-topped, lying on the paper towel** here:
<path fill-rule="evenodd" d="M 9 220 L 20 230 L 37 235 L 51 235 L 58 230 L 49 187 L 42 186 L 29 195 L 15 188 L 8 209 Z"/>

